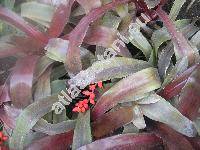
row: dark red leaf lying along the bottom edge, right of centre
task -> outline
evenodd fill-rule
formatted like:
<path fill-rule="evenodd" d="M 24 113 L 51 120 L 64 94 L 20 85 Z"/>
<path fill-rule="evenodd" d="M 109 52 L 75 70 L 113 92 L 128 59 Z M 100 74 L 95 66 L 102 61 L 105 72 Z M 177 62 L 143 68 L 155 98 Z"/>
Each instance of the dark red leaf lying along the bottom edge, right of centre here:
<path fill-rule="evenodd" d="M 97 140 L 82 146 L 78 150 L 95 149 L 126 149 L 126 150 L 155 150 L 162 148 L 162 140 L 154 134 L 123 134 Z"/>

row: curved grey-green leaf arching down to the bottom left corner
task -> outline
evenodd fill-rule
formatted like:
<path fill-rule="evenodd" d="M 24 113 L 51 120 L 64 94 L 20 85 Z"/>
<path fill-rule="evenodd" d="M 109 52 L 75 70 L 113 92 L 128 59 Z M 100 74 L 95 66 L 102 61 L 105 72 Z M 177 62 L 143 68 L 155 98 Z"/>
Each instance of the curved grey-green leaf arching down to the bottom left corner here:
<path fill-rule="evenodd" d="M 57 95 L 36 101 L 26 107 L 16 121 L 16 128 L 10 138 L 10 148 L 22 150 L 24 148 L 26 136 L 37 121 L 51 111 L 52 106 L 57 102 Z"/>

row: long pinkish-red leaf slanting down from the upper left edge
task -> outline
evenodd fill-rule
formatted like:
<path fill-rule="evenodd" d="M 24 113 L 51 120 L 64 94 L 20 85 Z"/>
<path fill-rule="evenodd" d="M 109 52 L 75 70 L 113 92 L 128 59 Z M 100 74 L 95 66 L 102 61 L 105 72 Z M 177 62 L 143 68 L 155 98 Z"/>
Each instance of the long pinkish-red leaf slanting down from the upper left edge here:
<path fill-rule="evenodd" d="M 25 32 L 28 36 L 36 39 L 39 42 L 47 43 L 48 41 L 48 37 L 44 33 L 38 31 L 36 28 L 29 25 L 23 18 L 11 10 L 3 8 L 2 6 L 0 6 L 0 19 L 16 26 Z"/>

